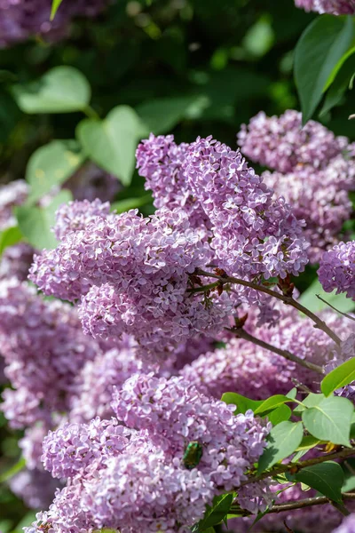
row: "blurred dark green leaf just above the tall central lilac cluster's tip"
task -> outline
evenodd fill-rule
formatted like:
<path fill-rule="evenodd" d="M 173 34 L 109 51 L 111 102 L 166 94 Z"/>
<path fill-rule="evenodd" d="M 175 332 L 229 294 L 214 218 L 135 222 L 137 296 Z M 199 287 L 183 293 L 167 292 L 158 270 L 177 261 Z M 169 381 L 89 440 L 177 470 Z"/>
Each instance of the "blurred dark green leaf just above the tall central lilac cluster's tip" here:
<path fill-rule="evenodd" d="M 200 99 L 200 96 L 152 99 L 138 106 L 136 110 L 147 130 L 158 135 L 172 130 L 188 117 L 190 109 Z"/>

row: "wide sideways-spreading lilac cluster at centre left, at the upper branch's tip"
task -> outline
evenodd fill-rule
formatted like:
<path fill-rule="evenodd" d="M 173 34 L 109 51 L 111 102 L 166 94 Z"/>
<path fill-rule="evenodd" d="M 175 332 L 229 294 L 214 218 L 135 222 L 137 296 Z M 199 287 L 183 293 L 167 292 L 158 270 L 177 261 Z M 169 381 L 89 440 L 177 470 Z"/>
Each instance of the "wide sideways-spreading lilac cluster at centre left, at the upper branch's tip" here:
<path fill-rule="evenodd" d="M 190 275 L 212 259 L 205 229 L 192 228 L 183 211 L 162 208 L 144 219 L 137 210 L 107 214 L 105 206 L 59 211 L 59 246 L 36 257 L 30 279 L 48 295 L 83 296 L 86 333 L 131 334 L 145 355 L 169 354 L 171 345 L 221 329 L 232 311 L 227 295 L 205 301 L 187 293 Z"/>

